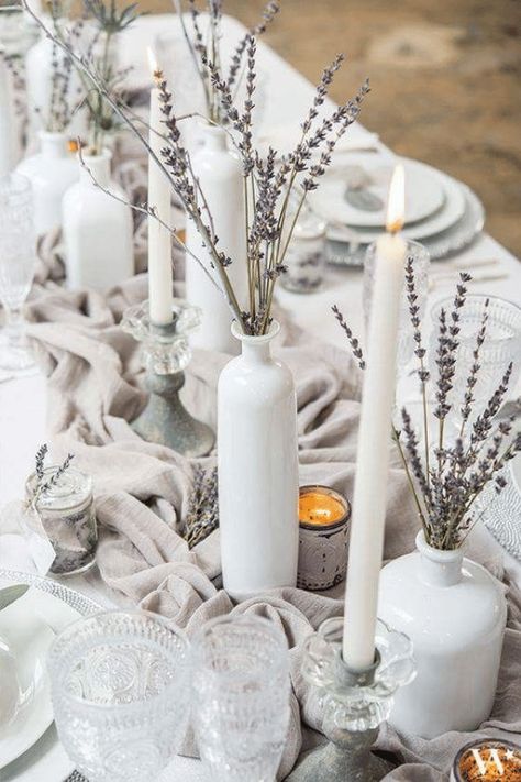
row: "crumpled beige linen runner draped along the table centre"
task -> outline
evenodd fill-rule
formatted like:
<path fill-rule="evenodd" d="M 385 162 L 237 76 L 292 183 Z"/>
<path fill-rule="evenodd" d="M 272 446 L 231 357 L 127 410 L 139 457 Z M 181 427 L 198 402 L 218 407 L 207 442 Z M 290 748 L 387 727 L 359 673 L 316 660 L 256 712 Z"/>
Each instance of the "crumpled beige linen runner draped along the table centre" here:
<path fill-rule="evenodd" d="M 302 642 L 326 618 L 343 614 L 343 585 L 329 593 L 274 590 L 235 605 L 213 580 L 220 573 L 219 530 L 189 550 L 181 537 L 192 485 L 193 462 L 141 440 L 129 426 L 143 408 L 138 345 L 123 333 L 123 309 L 146 296 L 146 276 L 137 275 L 106 295 L 67 291 L 56 275 L 56 240 L 41 245 L 43 258 L 29 310 L 30 337 L 48 375 L 48 429 L 57 458 L 75 454 L 79 469 L 95 480 L 100 525 L 100 577 L 118 599 L 171 619 L 188 636 L 208 619 L 253 613 L 268 617 L 286 634 L 292 693 L 291 719 L 279 779 L 299 753 L 323 740 L 321 714 L 300 673 Z M 54 272 L 53 272 L 54 269 Z M 179 286 L 179 284 L 178 284 Z M 182 287 L 178 287 L 182 294 Z M 359 414 L 358 370 L 348 351 L 320 342 L 277 312 L 282 329 L 275 353 L 291 368 L 297 387 L 300 482 L 325 483 L 353 495 Z M 324 318 L 332 317 L 324 312 Z M 229 356 L 193 352 L 182 398 L 197 417 L 215 426 L 215 387 Z M 214 454 L 199 460 L 213 466 Z M 417 522 L 396 453 L 389 480 L 385 557 L 414 548 Z M 477 529 L 468 555 L 502 576 L 501 549 Z M 387 780 L 441 782 L 456 751 L 481 736 L 521 731 L 521 601 L 509 591 L 509 628 L 492 715 L 477 734 L 447 734 L 434 740 L 398 735 L 381 727 L 377 748 L 398 767 Z M 197 755 L 189 737 L 184 752 Z"/>

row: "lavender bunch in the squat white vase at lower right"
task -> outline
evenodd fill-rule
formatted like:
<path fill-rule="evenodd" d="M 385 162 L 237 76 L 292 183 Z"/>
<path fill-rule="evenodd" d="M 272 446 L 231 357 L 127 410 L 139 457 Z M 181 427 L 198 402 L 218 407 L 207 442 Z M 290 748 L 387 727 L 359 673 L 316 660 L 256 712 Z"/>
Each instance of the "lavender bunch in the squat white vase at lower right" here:
<path fill-rule="evenodd" d="M 421 334 L 414 268 L 411 260 L 406 263 L 406 293 L 414 335 L 414 355 L 418 360 L 418 374 L 424 392 L 422 400 L 425 441 L 429 437 L 428 399 L 430 394 L 426 392 L 429 383 L 434 385 L 437 400 L 433 415 L 439 420 L 441 432 L 436 447 L 433 449 L 434 463 L 430 459 L 430 449 L 428 448 L 425 448 L 422 460 L 420 441 L 412 418 L 406 408 L 401 411 L 402 431 L 398 432 L 393 429 L 392 433 L 426 542 L 442 550 L 456 549 L 462 546 L 477 521 L 472 514 L 475 500 L 489 485 L 496 494 L 505 488 L 507 483 L 503 474 L 505 467 L 521 452 L 521 432 L 512 434 L 514 417 L 507 420 L 496 420 L 508 392 L 513 371 L 512 364 L 509 364 L 498 387 L 469 427 L 475 405 L 474 389 L 481 370 L 479 356 L 487 338 L 488 301 L 485 305 L 485 312 L 476 333 L 473 363 L 458 408 L 462 416 L 459 434 L 452 445 L 444 443 L 443 423 L 453 407 L 448 401 L 448 394 L 452 390 L 456 372 L 459 318 L 461 310 L 465 305 L 468 282 L 470 282 L 470 276 L 462 275 L 451 312 L 447 315 L 444 309 L 440 312 L 440 337 L 435 352 L 439 377 L 433 381 L 424 363 L 426 352 Z M 353 350 L 351 329 L 345 324 L 337 308 L 333 308 L 333 311 Z M 354 348 L 357 348 L 357 342 Z M 359 355 L 354 354 L 359 359 Z M 466 429 L 469 431 L 465 438 Z"/>

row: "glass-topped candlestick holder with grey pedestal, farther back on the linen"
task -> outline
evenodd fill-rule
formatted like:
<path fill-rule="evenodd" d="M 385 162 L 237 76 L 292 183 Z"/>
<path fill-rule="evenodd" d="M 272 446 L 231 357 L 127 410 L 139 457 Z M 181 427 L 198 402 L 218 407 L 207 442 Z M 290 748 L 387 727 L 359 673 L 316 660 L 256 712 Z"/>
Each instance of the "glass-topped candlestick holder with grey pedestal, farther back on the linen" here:
<path fill-rule="evenodd" d="M 132 422 L 137 434 L 148 442 L 167 445 L 188 458 L 210 453 L 215 441 L 207 423 L 191 416 L 179 398 L 185 372 L 191 359 L 188 334 L 201 322 L 201 310 L 174 299 L 173 320 L 154 323 L 148 301 L 123 312 L 123 331 L 143 343 L 148 403 Z"/>

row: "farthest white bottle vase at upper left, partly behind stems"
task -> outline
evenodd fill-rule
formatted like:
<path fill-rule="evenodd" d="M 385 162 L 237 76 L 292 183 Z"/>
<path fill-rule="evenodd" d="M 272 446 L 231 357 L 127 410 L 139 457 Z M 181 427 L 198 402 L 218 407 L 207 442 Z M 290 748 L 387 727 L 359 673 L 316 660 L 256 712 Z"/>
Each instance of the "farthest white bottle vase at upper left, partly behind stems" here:
<path fill-rule="evenodd" d="M 43 33 L 36 43 L 31 46 L 25 55 L 25 81 L 26 81 L 26 99 L 29 114 L 29 132 L 31 137 L 35 137 L 44 128 L 48 128 L 49 121 L 49 104 L 52 93 L 52 58 L 53 58 L 53 42 Z M 77 102 L 81 96 L 81 81 L 73 69 L 70 74 L 69 96 L 71 106 Z M 81 139 L 87 137 L 88 118 L 87 111 L 80 109 L 77 111 L 67 128 L 67 136 Z"/>

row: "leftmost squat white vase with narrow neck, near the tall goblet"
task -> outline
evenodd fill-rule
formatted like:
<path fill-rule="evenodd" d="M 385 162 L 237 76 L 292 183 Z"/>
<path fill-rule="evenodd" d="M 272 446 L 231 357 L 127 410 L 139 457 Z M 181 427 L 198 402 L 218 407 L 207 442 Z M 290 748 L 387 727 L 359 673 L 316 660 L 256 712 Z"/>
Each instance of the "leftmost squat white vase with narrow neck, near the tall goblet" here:
<path fill-rule="evenodd" d="M 16 167 L 30 179 L 34 192 L 34 227 L 47 233 L 62 223 L 62 199 L 78 180 L 78 165 L 67 150 L 64 133 L 38 133 L 41 152 L 26 157 Z"/>

